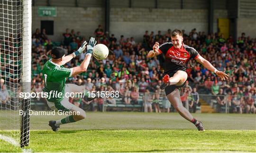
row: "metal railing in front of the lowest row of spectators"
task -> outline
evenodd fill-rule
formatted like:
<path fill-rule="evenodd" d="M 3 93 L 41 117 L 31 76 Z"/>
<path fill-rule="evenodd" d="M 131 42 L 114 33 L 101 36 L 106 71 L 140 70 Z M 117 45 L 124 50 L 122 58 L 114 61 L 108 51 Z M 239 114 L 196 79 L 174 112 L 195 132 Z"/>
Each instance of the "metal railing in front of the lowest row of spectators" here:
<path fill-rule="evenodd" d="M 213 112 L 217 113 L 250 113 L 256 110 L 253 110 L 256 106 L 256 99 L 252 97 L 249 99 L 248 96 L 240 96 L 240 95 L 212 95 L 212 94 L 199 94 L 199 103 L 196 104 L 195 109 L 201 110 L 201 105 L 208 105 Z M 114 101 L 111 103 L 111 101 Z M 195 104 L 196 99 L 193 99 L 191 95 L 182 101 L 183 106 L 193 111 L 193 106 L 191 106 L 192 102 Z M 248 103 L 252 102 L 254 107 L 249 108 Z M 44 99 L 31 99 L 31 105 L 33 109 L 49 109 Z M 86 104 L 81 104 L 82 108 L 86 108 Z M 97 107 L 98 103 L 93 102 L 93 107 Z M 104 99 L 103 110 L 135 110 L 135 111 L 145 111 L 147 107 L 147 111 L 153 109 L 155 111 L 155 107 L 159 107 L 158 109 L 172 109 L 174 107 L 171 105 L 169 100 L 166 98 L 164 91 L 159 93 L 150 92 L 144 93 L 140 92 L 137 99 L 132 99 L 130 96 L 122 96 L 119 98 L 114 98 L 114 100 L 110 100 L 108 98 Z M 88 107 L 87 107 L 88 108 Z M 208 107 L 209 108 L 209 107 Z M 159 110 L 158 110 L 159 111 Z M 198 112 L 198 111 L 196 111 Z"/>

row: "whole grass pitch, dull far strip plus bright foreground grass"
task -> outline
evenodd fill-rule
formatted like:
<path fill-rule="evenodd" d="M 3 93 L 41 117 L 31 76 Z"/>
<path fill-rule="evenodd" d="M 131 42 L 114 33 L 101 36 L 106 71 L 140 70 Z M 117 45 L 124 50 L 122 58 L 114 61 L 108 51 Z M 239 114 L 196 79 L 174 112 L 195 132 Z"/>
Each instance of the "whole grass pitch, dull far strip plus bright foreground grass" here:
<path fill-rule="evenodd" d="M 177 113 L 93 112 L 86 120 L 61 125 L 56 133 L 47 122 L 59 116 L 31 116 L 29 148 L 33 152 L 256 152 L 256 115 L 193 116 L 203 122 L 205 132 Z M 20 151 L 0 140 L 0 152 Z"/>

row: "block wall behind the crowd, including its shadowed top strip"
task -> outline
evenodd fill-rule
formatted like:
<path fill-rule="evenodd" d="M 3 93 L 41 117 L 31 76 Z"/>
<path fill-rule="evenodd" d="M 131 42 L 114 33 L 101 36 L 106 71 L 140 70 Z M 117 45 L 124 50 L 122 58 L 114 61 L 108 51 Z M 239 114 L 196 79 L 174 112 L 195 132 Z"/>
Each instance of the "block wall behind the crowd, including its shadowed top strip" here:
<path fill-rule="evenodd" d="M 47 0 L 34 1 L 32 7 L 32 31 L 40 27 L 41 20 L 54 21 L 53 41 L 62 39 L 65 28 L 76 29 L 84 36 L 92 36 L 95 27 L 103 25 L 105 21 L 104 0 L 63 0 L 57 3 L 51 0 L 50 6 L 56 7 L 56 17 L 39 17 L 38 6 L 48 6 Z M 199 31 L 208 31 L 208 3 L 207 0 L 110 0 L 110 34 L 134 36 L 135 40 L 142 41 L 141 36 L 145 29 L 165 31 L 166 29 L 180 28 L 186 32 L 191 27 Z M 213 32 L 217 32 L 217 19 L 228 18 L 226 0 L 215 0 Z"/>

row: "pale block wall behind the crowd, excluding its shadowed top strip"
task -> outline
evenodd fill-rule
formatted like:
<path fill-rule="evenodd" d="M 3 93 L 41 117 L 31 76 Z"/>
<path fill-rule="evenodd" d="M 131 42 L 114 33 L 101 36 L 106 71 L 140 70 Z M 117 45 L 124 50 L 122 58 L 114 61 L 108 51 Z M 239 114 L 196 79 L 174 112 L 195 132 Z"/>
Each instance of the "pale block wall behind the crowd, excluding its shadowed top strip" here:
<path fill-rule="evenodd" d="M 33 7 L 32 11 L 32 31 L 40 27 L 41 20 L 53 20 L 54 36 L 50 36 L 53 40 L 61 39 L 67 27 L 92 36 L 98 24 L 104 25 L 104 8 L 57 7 L 57 17 L 38 17 L 37 8 Z M 190 31 L 196 27 L 199 31 L 208 31 L 207 12 L 207 9 L 111 8 L 110 33 L 134 36 L 139 41 L 145 29 Z M 217 18 L 227 18 L 227 10 L 216 9 L 214 14 L 214 32 L 217 32 Z"/>

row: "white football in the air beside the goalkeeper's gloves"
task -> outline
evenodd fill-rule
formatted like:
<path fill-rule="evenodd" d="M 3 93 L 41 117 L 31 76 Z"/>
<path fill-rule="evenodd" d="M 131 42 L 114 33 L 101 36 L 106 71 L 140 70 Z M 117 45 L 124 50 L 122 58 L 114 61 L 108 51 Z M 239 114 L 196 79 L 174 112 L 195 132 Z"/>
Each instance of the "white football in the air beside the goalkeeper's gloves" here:
<path fill-rule="evenodd" d="M 93 47 L 92 54 L 97 60 L 104 60 L 109 55 L 109 48 L 104 44 L 97 44 Z"/>

